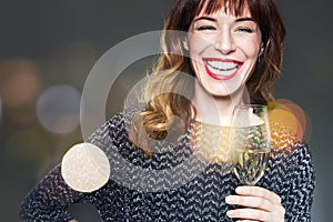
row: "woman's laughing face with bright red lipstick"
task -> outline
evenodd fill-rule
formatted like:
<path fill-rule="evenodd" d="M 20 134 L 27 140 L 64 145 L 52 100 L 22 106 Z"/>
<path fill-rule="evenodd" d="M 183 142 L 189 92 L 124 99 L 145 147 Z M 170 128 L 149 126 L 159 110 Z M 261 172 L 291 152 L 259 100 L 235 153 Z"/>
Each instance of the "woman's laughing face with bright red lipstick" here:
<path fill-rule="evenodd" d="M 240 17 L 224 9 L 200 13 L 192 21 L 184 44 L 200 89 L 216 97 L 244 89 L 262 50 L 260 29 L 248 8 Z"/>

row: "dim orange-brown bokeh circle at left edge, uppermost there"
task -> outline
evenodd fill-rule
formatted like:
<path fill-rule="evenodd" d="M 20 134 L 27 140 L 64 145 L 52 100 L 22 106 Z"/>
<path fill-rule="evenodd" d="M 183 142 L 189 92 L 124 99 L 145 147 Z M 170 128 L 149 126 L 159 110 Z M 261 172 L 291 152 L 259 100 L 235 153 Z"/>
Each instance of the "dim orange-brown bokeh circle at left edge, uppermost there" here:
<path fill-rule="evenodd" d="M 0 94 L 3 107 L 17 108 L 36 99 L 40 80 L 36 64 L 23 58 L 0 62 Z"/>

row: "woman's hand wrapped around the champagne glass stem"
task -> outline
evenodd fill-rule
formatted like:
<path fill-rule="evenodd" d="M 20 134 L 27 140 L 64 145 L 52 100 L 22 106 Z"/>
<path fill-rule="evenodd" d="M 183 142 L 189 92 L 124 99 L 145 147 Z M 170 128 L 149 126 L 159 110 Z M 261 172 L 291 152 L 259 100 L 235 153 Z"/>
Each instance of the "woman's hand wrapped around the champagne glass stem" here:
<path fill-rule="evenodd" d="M 260 186 L 239 186 L 235 192 L 238 195 L 226 196 L 225 202 L 244 208 L 228 211 L 229 218 L 240 219 L 239 221 L 284 221 L 285 210 L 281 198 L 272 191 Z"/>

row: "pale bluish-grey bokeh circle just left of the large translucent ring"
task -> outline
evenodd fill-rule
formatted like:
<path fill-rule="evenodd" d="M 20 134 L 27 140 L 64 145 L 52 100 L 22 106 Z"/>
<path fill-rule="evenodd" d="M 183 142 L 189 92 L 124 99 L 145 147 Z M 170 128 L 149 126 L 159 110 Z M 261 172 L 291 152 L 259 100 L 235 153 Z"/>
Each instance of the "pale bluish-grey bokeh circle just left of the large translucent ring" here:
<path fill-rule="evenodd" d="M 48 88 L 37 102 L 39 122 L 54 133 L 70 133 L 80 122 L 80 100 L 78 90 L 60 84 Z"/>

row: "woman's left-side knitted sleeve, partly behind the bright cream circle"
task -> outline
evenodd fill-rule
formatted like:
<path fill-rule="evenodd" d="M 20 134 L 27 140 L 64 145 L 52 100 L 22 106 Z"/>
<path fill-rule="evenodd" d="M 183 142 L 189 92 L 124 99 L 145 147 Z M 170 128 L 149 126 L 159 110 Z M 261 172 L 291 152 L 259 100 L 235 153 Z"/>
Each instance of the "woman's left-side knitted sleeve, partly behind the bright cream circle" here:
<path fill-rule="evenodd" d="M 119 131 L 117 127 L 123 121 L 122 115 L 115 115 L 97 129 L 85 142 L 98 145 L 107 155 L 112 155 L 113 141 L 110 130 Z M 113 132 L 117 133 L 117 132 Z M 73 203 L 89 199 L 89 193 L 71 189 L 61 175 L 61 164 L 50 171 L 28 193 L 20 205 L 22 221 L 69 221 L 73 219 L 67 209 Z"/>

